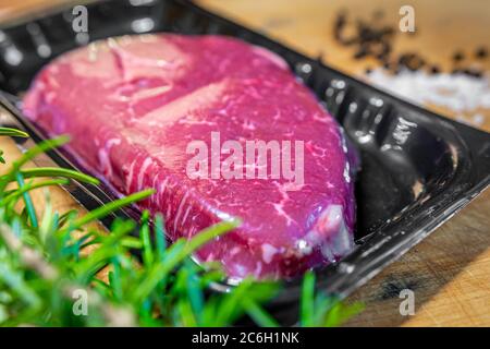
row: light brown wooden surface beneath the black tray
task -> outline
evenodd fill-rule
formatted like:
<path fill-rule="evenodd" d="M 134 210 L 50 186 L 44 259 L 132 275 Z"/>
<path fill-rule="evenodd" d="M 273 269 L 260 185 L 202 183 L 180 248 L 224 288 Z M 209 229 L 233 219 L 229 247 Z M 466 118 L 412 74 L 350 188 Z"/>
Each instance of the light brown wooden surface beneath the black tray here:
<path fill-rule="evenodd" d="M 38 11 L 62 1 L 0 0 L 0 21 L 28 11 Z M 352 49 L 333 40 L 332 21 L 340 10 L 367 17 L 382 9 L 388 21 L 397 23 L 405 1 L 362 0 L 199 0 L 199 4 L 260 31 L 348 74 L 364 79 L 372 60 L 353 59 Z M 73 1 L 71 1 L 73 3 Z M 470 52 L 488 45 L 490 1 L 411 1 L 416 14 L 416 35 L 397 35 L 395 51 L 417 51 L 443 69 L 451 68 L 451 56 L 461 49 Z M 482 63 L 489 72 L 489 60 Z M 451 110 L 429 109 L 450 118 Z M 490 110 L 479 110 L 490 131 Z M 19 157 L 10 140 L 0 139 L 7 160 Z M 53 205 L 64 212 L 77 204 L 61 189 Z M 35 201 L 40 204 L 42 195 Z M 347 326 L 490 326 L 490 191 L 485 192 L 429 238 L 391 264 L 348 301 L 363 301 L 365 311 Z M 400 291 L 415 292 L 415 315 L 400 314 Z"/>

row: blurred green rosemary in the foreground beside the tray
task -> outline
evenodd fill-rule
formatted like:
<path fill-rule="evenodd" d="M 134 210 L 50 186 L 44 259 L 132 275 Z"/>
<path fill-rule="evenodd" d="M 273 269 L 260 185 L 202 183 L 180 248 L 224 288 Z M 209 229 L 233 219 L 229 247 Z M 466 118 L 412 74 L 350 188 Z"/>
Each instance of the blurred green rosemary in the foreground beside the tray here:
<path fill-rule="evenodd" d="M 0 135 L 27 136 L 7 128 L 0 128 Z M 247 314 L 257 325 L 279 326 L 264 304 L 279 292 L 280 284 L 245 279 L 228 293 L 209 294 L 210 284 L 224 277 L 221 268 L 216 263 L 199 266 L 191 258 L 207 242 L 238 227 L 238 220 L 219 222 L 189 240 L 167 245 L 163 216 L 150 217 L 148 212 L 143 213 L 139 227 L 115 219 L 108 233 L 87 228 L 148 197 L 152 190 L 84 215 L 54 212 L 49 195 L 44 209 L 36 207 L 33 190 L 71 180 L 98 183 L 69 169 L 23 167 L 66 142 L 68 137 L 59 137 L 38 144 L 0 177 L 0 325 L 230 326 Z M 8 186 L 15 182 L 14 189 Z M 24 208 L 19 209 L 21 200 Z M 305 275 L 301 325 L 335 326 L 358 311 L 358 305 L 346 306 L 328 294 L 315 294 L 315 275 Z"/>

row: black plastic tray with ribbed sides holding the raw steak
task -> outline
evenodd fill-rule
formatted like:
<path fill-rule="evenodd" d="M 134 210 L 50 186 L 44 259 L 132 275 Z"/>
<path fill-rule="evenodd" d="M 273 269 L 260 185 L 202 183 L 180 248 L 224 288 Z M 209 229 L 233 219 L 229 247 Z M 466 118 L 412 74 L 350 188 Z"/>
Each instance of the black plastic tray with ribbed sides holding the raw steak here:
<path fill-rule="evenodd" d="M 134 34 L 132 24 L 142 19 L 151 21 L 151 32 L 231 35 L 282 56 L 317 94 L 357 145 L 363 164 L 356 184 L 358 246 L 317 273 L 318 287 L 340 298 L 399 258 L 490 183 L 490 134 L 390 96 L 192 3 L 101 1 L 87 8 L 90 41 Z M 36 141 L 45 135 L 22 116 L 19 96 L 44 64 L 77 46 L 71 10 L 0 29 L 0 101 Z M 49 46 L 49 57 L 39 55 L 46 52 L 40 45 Z M 79 169 L 70 155 L 58 151 L 49 155 L 59 166 Z M 69 191 L 88 208 L 114 197 L 105 186 L 78 183 Z M 117 213 L 134 214 L 133 208 Z M 295 321 L 295 305 L 284 303 L 295 303 L 298 292 L 298 280 L 289 281 L 272 304 L 284 323 Z"/>

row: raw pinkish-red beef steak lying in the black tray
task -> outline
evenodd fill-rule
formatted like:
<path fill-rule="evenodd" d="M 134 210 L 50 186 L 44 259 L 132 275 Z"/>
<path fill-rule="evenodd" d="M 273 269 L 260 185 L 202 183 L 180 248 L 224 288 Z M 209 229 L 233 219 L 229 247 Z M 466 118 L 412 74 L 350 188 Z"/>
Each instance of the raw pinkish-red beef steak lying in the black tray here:
<path fill-rule="evenodd" d="M 48 64 L 24 111 L 70 134 L 69 151 L 122 194 L 155 188 L 140 206 L 164 215 L 171 239 L 242 218 L 197 253 L 231 277 L 291 277 L 353 248 L 341 130 L 264 48 L 170 34 L 97 41 Z"/>

